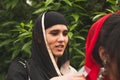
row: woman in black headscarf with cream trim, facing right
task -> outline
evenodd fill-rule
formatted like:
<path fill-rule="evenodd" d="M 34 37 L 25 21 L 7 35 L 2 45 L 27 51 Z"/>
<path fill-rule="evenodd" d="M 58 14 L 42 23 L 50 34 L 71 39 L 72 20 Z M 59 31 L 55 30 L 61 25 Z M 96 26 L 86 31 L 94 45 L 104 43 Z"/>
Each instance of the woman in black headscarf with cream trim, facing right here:
<path fill-rule="evenodd" d="M 44 12 L 33 28 L 31 59 L 14 61 L 7 80 L 85 80 L 74 73 L 69 65 L 67 22 L 58 12 Z"/>

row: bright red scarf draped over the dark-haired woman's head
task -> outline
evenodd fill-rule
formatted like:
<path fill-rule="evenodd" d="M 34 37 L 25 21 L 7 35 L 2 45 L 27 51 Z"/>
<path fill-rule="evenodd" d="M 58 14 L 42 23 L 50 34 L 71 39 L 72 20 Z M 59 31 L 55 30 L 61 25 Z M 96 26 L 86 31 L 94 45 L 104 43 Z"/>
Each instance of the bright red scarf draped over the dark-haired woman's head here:
<path fill-rule="evenodd" d="M 97 80 L 98 73 L 100 70 L 100 65 L 96 63 L 92 57 L 92 50 L 96 44 L 98 39 L 100 30 L 104 21 L 111 16 L 112 14 L 107 14 L 96 21 L 90 28 L 86 40 L 86 59 L 85 59 L 85 66 L 91 69 L 90 73 L 87 76 L 87 80 Z M 108 79 L 105 79 L 108 80 Z"/>

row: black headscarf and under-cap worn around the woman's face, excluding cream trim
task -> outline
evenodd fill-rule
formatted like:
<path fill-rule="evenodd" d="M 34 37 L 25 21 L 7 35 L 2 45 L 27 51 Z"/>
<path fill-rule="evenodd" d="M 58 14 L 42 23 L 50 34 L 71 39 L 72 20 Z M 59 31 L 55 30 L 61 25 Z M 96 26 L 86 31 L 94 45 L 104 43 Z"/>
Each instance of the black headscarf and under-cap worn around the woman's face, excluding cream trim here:
<path fill-rule="evenodd" d="M 43 13 L 44 14 L 44 13 Z M 30 74 L 33 80 L 49 80 L 51 77 L 57 76 L 57 72 L 48 54 L 46 44 L 42 31 L 42 15 L 38 17 L 35 22 L 32 34 L 32 56 L 30 64 Z M 45 12 L 44 26 L 45 29 L 56 25 L 64 24 L 67 22 L 64 16 L 55 11 Z M 68 46 L 65 49 L 63 56 L 58 59 L 58 67 L 60 68 L 69 59 Z"/>

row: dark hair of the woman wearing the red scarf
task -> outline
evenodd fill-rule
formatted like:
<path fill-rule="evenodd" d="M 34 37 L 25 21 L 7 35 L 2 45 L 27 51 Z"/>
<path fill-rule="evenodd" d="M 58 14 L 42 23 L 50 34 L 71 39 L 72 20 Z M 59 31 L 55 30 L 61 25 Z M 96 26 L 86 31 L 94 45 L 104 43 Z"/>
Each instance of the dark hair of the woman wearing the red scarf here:
<path fill-rule="evenodd" d="M 110 59 L 115 59 L 117 68 L 120 67 L 120 14 L 113 14 L 103 24 L 98 40 L 93 49 L 93 58 L 102 65 L 98 48 L 102 46 Z M 118 69 L 120 74 L 120 69 Z"/>

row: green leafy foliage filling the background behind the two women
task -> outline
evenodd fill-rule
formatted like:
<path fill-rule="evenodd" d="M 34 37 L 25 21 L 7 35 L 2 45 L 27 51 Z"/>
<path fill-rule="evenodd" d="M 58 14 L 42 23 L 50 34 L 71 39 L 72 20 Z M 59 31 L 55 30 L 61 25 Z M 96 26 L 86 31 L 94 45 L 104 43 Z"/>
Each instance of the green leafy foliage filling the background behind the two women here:
<path fill-rule="evenodd" d="M 33 23 L 43 11 L 55 10 L 65 15 L 71 65 L 79 69 L 84 64 L 90 25 L 119 9 L 120 0 L 0 0 L 0 80 L 5 80 L 13 59 L 30 57 Z"/>

